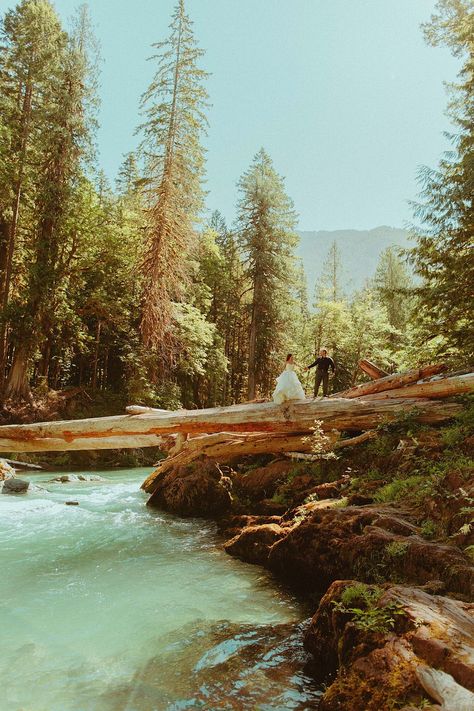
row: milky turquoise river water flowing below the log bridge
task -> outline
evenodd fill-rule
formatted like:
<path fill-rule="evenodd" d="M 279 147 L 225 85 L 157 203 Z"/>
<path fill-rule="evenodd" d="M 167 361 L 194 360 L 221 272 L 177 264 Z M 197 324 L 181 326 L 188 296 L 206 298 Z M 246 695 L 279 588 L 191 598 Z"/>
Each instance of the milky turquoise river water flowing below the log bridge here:
<path fill-rule="evenodd" d="M 147 473 L 0 495 L 1 711 L 316 708 L 298 603 Z"/>

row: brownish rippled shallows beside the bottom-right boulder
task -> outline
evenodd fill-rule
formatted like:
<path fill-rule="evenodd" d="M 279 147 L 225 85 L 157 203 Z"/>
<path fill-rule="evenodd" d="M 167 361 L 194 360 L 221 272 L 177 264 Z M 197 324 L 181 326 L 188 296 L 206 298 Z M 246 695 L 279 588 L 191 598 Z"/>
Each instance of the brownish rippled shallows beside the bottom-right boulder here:
<path fill-rule="evenodd" d="M 133 679 L 106 691 L 100 711 L 304 711 L 317 709 L 321 689 L 305 672 L 305 623 L 184 626 L 160 640 Z"/>

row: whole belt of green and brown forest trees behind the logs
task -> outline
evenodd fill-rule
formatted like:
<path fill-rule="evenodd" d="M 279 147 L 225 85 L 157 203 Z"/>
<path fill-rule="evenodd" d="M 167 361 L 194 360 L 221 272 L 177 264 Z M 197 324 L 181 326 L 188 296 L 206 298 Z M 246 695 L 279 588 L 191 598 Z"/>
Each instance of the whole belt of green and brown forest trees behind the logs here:
<path fill-rule="evenodd" d="M 268 397 L 287 353 L 304 366 L 323 346 L 337 364 L 335 390 L 355 384 L 361 358 L 389 372 L 439 357 L 453 367 L 472 362 L 474 6 L 437 7 L 426 38 L 460 62 L 452 150 L 421 172 L 413 249 L 386 250 L 351 295 L 336 244 L 308 295 L 284 166 L 264 148 L 236 176 L 235 224 L 218 205 L 206 212 L 210 99 L 184 0 L 153 47 L 154 77 L 137 106 L 142 140 L 115 186 L 94 162 L 98 55 L 86 8 L 68 27 L 48 0 L 8 10 L 0 27 L 3 401 L 80 387 L 156 407 L 230 404 Z"/>

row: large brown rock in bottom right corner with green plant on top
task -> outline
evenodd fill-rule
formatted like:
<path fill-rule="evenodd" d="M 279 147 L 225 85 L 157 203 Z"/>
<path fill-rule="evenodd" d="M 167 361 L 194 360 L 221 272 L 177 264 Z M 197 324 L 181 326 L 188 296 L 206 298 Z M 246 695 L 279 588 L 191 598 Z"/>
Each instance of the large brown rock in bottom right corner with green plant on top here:
<path fill-rule="evenodd" d="M 473 605 L 394 586 L 378 591 L 380 597 L 370 604 L 372 612 L 362 622 L 348 609 L 369 610 L 363 597 L 358 600 L 356 595 L 352 603 L 341 606 L 350 588 L 355 592 L 361 585 L 354 581 L 331 585 L 305 635 L 305 646 L 321 676 L 338 673 L 324 694 L 321 711 L 380 711 L 404 703 L 419 707 L 427 696 L 445 711 L 464 708 L 450 706 L 452 698 L 472 704 Z M 437 696 L 430 684 L 436 684 Z"/>

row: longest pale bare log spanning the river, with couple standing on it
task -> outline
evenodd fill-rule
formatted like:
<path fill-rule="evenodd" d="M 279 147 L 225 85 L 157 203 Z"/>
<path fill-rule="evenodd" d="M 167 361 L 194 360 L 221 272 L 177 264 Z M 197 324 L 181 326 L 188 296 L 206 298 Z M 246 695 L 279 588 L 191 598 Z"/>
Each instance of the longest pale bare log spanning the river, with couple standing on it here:
<path fill-rule="evenodd" d="M 474 374 L 461 376 L 463 392 L 472 389 Z M 449 380 L 449 379 L 448 379 Z M 444 392 L 459 392 L 444 380 Z M 432 395 L 426 384 L 426 393 Z M 460 410 L 455 403 L 409 398 L 408 388 L 399 389 L 397 396 L 369 395 L 365 399 L 294 400 L 284 405 L 260 403 L 232 405 L 205 410 L 182 410 L 144 415 L 117 415 L 85 420 L 4 425 L 0 427 L 0 452 L 66 451 L 83 449 L 116 449 L 125 447 L 160 446 L 164 435 L 189 433 L 209 434 L 232 432 L 310 432 L 314 421 L 320 420 L 324 431 L 363 431 L 374 429 L 382 422 L 396 419 L 401 413 L 417 408 L 416 419 L 423 423 L 443 422 Z"/>

